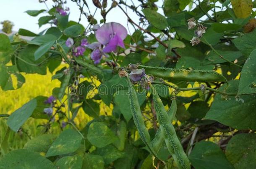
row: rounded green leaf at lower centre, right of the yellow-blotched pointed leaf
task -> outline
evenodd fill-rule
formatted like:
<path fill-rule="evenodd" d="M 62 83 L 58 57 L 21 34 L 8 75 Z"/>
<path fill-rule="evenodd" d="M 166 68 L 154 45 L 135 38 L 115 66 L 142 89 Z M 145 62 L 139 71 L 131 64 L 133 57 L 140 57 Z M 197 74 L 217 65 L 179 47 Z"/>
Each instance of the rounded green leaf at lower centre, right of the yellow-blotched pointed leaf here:
<path fill-rule="evenodd" d="M 92 145 L 100 148 L 113 143 L 117 137 L 104 123 L 94 122 L 89 127 L 87 139 Z"/>

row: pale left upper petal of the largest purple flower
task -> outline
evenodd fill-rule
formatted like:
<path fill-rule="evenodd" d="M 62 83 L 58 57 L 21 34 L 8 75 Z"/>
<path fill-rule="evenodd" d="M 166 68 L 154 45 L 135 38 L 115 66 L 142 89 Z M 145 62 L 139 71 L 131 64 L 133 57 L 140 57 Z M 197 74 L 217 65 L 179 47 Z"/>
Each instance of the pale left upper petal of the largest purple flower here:
<path fill-rule="evenodd" d="M 112 35 L 111 23 L 105 23 L 95 33 L 96 39 L 99 43 L 106 45 L 110 41 L 110 35 Z"/>

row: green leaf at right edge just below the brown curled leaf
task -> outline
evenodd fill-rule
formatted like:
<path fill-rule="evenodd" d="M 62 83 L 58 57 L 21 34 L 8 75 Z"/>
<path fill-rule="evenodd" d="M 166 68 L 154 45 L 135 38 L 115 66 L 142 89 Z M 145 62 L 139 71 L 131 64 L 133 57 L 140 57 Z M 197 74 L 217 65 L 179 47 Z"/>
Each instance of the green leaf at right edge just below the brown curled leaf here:
<path fill-rule="evenodd" d="M 256 29 L 251 33 L 246 33 L 243 36 L 235 38 L 232 42 L 235 44 L 243 54 L 250 55 L 251 52 L 256 48 Z"/>

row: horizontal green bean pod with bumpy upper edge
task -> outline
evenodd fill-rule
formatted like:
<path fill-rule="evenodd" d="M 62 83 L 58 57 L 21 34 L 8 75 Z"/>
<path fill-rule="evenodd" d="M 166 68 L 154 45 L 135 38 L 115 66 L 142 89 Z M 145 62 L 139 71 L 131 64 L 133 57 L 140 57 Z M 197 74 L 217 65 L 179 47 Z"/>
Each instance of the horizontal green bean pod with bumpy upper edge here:
<path fill-rule="evenodd" d="M 163 79 L 175 79 L 180 81 L 199 81 L 199 82 L 227 82 L 227 79 L 215 71 L 186 70 L 165 67 L 152 67 L 139 65 L 144 68 L 146 74 Z"/>

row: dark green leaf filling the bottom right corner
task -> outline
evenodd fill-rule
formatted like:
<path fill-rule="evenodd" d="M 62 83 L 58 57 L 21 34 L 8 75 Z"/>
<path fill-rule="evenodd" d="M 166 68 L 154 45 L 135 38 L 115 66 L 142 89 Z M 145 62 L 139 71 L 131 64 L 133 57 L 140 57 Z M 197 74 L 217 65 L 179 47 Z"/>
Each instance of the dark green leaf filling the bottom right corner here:
<path fill-rule="evenodd" d="M 228 142 L 227 159 L 235 169 L 256 168 L 256 134 L 237 134 Z"/>

